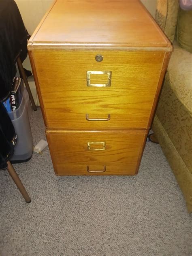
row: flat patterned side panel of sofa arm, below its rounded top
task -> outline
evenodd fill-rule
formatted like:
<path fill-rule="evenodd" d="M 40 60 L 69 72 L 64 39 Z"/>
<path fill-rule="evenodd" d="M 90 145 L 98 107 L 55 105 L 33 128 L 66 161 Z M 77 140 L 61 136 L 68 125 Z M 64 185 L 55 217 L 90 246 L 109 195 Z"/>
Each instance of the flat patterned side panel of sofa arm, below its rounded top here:
<path fill-rule="evenodd" d="M 173 92 L 168 76 L 165 77 L 156 116 L 186 168 L 192 173 L 192 113 L 182 105 Z"/>

